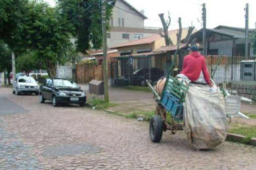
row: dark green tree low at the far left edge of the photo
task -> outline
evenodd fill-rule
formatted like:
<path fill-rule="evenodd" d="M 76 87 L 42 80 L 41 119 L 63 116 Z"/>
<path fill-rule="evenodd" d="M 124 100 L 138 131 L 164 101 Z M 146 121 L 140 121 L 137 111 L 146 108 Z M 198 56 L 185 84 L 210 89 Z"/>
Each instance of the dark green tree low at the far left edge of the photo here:
<path fill-rule="evenodd" d="M 11 51 L 8 45 L 3 41 L 0 40 L 0 72 L 7 71 L 8 75 L 12 71 L 12 57 Z M 10 78 L 8 76 L 8 84 L 10 85 Z"/>

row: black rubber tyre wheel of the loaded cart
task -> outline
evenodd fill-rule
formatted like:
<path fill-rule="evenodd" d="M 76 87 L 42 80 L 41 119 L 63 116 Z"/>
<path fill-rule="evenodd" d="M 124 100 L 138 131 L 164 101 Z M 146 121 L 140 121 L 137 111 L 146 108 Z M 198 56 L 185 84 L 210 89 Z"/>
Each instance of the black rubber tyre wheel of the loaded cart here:
<path fill-rule="evenodd" d="M 149 136 L 152 142 L 159 142 L 163 135 L 163 121 L 158 115 L 151 118 L 149 123 Z"/>

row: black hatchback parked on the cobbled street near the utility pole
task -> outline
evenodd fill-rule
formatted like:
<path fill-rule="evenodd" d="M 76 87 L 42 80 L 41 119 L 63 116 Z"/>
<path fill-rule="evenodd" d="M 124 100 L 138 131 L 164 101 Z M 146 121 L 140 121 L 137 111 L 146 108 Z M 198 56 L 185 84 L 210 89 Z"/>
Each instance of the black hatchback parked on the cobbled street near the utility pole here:
<path fill-rule="evenodd" d="M 51 100 L 54 107 L 61 103 L 84 106 L 86 102 L 85 92 L 76 83 L 65 79 L 46 79 L 40 86 L 39 94 L 40 103 Z"/>

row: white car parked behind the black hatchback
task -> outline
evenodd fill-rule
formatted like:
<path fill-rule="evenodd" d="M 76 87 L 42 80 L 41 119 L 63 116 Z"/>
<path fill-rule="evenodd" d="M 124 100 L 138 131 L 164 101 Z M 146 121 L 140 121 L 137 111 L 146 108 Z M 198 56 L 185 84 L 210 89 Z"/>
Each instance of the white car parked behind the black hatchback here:
<path fill-rule="evenodd" d="M 38 82 L 33 77 L 20 76 L 13 82 L 13 94 L 19 95 L 20 93 L 35 93 L 39 94 Z"/>

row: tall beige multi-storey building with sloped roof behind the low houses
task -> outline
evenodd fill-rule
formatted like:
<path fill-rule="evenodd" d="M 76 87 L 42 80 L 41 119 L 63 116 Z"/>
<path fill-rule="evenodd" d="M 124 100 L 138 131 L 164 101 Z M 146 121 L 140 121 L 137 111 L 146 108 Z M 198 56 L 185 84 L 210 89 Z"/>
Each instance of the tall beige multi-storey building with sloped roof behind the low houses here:
<path fill-rule="evenodd" d="M 162 32 L 162 28 L 144 27 L 147 17 L 125 0 L 117 0 L 110 19 L 110 32 L 107 33 L 107 46 L 138 40 Z"/>

